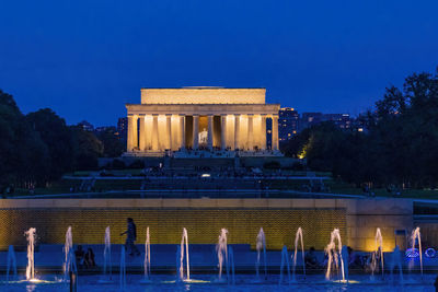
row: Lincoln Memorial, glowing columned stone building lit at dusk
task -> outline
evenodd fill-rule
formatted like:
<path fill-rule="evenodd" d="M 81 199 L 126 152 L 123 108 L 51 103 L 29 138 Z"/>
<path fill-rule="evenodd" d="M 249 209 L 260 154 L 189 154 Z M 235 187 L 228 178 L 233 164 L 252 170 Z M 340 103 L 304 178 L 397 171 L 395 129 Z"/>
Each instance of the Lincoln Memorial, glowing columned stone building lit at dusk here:
<path fill-rule="evenodd" d="M 265 89 L 141 89 L 141 104 L 126 105 L 126 154 L 193 150 L 278 153 L 280 105 L 266 104 L 265 96 Z M 267 119 L 272 119 L 272 131 L 266 131 Z"/>

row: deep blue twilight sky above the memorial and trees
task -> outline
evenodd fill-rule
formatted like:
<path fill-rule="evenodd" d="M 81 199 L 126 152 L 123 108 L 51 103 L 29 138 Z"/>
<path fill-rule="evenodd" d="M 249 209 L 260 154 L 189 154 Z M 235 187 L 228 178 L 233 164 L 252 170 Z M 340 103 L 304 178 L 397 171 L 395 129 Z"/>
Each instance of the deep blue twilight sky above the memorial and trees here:
<path fill-rule="evenodd" d="M 356 115 L 438 66 L 437 0 L 0 2 L 0 89 L 24 113 L 115 125 L 140 87 L 266 87 Z"/>

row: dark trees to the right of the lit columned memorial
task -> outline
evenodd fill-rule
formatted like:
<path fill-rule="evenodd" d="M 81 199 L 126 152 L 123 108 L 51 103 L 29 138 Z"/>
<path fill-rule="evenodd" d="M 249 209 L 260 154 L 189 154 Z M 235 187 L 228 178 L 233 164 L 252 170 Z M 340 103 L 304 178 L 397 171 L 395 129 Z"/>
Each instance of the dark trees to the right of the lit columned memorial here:
<path fill-rule="evenodd" d="M 323 122 L 284 145 L 313 171 L 332 172 L 357 186 L 425 188 L 438 184 L 438 68 L 390 86 L 358 128 Z"/>

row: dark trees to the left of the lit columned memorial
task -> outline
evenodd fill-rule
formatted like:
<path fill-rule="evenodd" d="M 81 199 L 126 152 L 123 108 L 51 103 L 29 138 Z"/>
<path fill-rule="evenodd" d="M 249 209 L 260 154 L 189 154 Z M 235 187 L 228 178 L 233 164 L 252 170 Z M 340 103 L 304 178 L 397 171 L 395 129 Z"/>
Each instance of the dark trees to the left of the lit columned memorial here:
<path fill-rule="evenodd" d="M 95 135 L 68 126 L 50 108 L 24 115 L 0 90 L 0 192 L 11 185 L 45 186 L 67 172 L 96 168 L 99 157 L 123 151 L 114 131 Z"/>

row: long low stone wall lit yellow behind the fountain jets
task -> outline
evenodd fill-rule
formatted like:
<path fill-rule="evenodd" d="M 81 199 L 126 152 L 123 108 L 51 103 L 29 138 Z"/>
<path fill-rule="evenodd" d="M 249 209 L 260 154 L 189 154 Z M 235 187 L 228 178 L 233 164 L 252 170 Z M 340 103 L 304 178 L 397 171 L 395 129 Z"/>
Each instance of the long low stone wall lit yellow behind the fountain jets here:
<path fill-rule="evenodd" d="M 412 202 L 411 202 L 412 206 Z M 411 213 L 410 213 L 411 210 Z M 69 225 L 77 244 L 102 244 L 111 226 L 112 242 L 126 218 L 137 223 L 138 242 L 150 227 L 152 244 L 177 244 L 182 229 L 189 243 L 215 244 L 220 229 L 229 230 L 229 243 L 254 248 L 260 227 L 268 249 L 292 247 L 295 233 L 303 229 L 306 248 L 323 249 L 338 227 L 343 243 L 371 250 L 376 227 L 382 229 L 384 249 L 392 248 L 393 231 L 412 226 L 406 200 L 364 199 L 23 199 L 0 200 L 0 248 L 25 245 L 24 231 L 36 227 L 42 244 L 62 244 Z M 411 221 L 410 221 L 411 220 Z M 407 226 L 408 225 L 408 226 Z M 391 237 L 392 236 L 392 237 Z"/>

